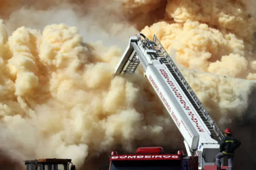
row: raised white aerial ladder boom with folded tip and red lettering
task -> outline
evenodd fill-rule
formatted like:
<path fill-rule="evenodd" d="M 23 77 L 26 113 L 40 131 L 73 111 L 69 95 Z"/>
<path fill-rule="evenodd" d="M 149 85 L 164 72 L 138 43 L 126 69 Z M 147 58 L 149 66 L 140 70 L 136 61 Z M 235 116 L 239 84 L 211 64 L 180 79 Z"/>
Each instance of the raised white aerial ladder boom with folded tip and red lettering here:
<path fill-rule="evenodd" d="M 198 156 L 198 169 L 214 165 L 223 134 L 156 35 L 153 40 L 142 33 L 131 36 L 114 76 L 134 73 L 140 63 L 182 134 L 187 155 Z"/>

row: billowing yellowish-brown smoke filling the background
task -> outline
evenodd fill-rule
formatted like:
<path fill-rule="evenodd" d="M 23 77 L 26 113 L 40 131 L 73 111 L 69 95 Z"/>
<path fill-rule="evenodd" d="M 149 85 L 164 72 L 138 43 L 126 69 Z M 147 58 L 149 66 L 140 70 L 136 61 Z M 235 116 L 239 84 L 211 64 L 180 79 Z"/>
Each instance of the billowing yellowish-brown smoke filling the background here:
<path fill-rule="evenodd" d="M 112 77 L 129 36 L 140 31 L 150 39 L 156 34 L 168 52 L 175 51 L 173 60 L 221 128 L 253 120 L 255 5 L 1 2 L 0 168 L 58 157 L 94 169 L 111 150 L 183 147 L 141 72 Z"/>

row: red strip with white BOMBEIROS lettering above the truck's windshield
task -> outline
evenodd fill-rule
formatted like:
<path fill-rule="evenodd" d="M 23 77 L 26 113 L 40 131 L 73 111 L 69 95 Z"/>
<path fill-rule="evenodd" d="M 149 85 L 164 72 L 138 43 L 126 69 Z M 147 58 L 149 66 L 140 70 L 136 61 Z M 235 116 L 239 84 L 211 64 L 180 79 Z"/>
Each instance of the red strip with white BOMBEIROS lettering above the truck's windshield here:
<path fill-rule="evenodd" d="M 180 160 L 178 154 L 112 155 L 110 160 Z"/>

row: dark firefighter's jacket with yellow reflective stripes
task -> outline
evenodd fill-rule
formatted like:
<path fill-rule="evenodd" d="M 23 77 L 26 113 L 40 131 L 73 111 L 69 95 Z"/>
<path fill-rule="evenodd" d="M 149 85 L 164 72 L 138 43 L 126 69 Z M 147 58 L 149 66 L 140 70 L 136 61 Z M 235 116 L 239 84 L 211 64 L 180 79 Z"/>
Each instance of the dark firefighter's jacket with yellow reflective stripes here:
<path fill-rule="evenodd" d="M 233 136 L 224 136 L 221 140 L 219 150 L 224 154 L 234 154 L 234 150 L 240 147 L 241 142 Z"/>

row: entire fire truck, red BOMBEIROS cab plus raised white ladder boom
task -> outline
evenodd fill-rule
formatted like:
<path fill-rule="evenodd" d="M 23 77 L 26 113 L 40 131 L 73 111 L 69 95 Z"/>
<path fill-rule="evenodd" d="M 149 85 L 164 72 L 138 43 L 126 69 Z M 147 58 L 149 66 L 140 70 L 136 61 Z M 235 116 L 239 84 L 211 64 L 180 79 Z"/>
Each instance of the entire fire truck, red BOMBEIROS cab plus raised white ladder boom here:
<path fill-rule="evenodd" d="M 182 134 L 186 152 L 165 154 L 161 147 L 138 148 L 135 155 L 112 152 L 109 170 L 216 170 L 215 156 L 223 134 L 156 35 L 153 40 L 141 33 L 131 36 L 114 76 L 134 73 L 139 64 Z"/>

